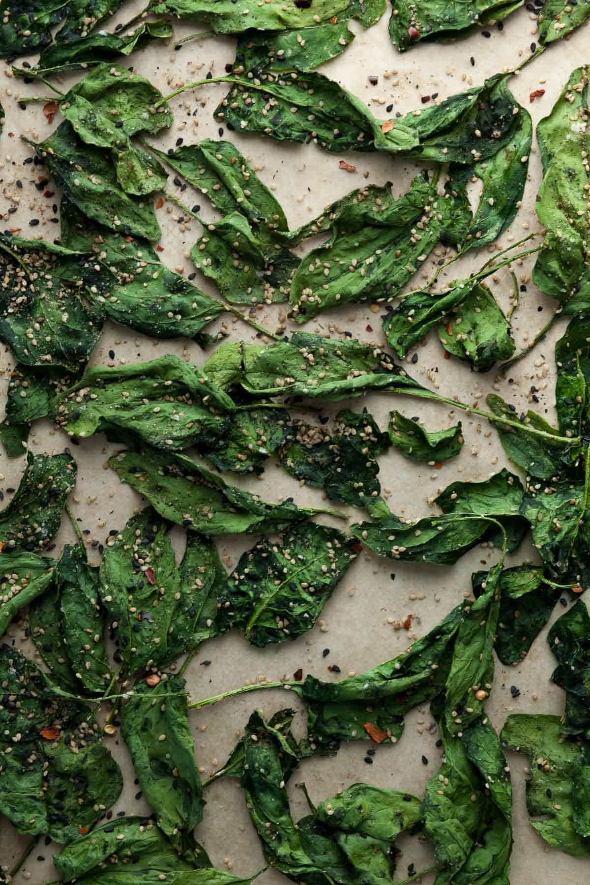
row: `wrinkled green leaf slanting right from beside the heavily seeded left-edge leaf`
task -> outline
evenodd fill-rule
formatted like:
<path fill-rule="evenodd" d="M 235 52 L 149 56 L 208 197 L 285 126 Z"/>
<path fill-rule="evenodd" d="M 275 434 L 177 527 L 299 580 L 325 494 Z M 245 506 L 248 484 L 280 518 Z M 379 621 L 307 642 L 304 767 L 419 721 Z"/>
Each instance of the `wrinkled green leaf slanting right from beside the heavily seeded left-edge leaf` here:
<path fill-rule="evenodd" d="M 152 338 L 199 338 L 223 313 L 222 304 L 163 265 L 147 240 L 92 224 L 65 196 L 59 213 L 62 242 L 92 253 L 70 263 L 68 279 L 82 281 L 115 322 Z"/>

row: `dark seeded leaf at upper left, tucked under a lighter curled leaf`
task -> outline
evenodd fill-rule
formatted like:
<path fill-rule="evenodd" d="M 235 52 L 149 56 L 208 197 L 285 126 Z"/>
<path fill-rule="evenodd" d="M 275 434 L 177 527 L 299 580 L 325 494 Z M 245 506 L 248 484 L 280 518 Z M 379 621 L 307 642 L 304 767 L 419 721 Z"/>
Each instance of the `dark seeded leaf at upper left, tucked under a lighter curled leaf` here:
<path fill-rule="evenodd" d="M 93 221 L 121 234 L 157 240 L 161 235 L 148 199 L 119 187 L 115 168 L 102 148 L 82 142 L 65 120 L 44 142 L 28 142 L 73 204 Z"/>

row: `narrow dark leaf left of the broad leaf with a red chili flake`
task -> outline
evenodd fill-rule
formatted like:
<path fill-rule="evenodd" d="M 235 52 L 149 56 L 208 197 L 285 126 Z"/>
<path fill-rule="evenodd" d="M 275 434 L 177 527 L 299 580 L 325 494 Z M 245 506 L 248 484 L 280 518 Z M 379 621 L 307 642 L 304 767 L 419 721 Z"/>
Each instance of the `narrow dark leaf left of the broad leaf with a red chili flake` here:
<path fill-rule="evenodd" d="M 98 570 L 88 566 L 81 544 L 66 544 L 52 579 L 50 591 L 31 608 L 34 643 L 60 688 L 101 696 L 111 682 L 111 665 L 104 645 Z"/>

